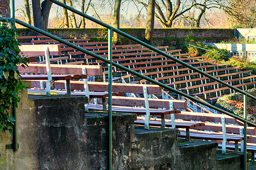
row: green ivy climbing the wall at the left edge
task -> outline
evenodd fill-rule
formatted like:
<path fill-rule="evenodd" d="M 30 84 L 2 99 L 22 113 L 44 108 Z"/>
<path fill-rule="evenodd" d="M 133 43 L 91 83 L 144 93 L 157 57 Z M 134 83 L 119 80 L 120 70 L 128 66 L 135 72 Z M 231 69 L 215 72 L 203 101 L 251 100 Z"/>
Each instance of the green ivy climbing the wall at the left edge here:
<path fill-rule="evenodd" d="M 0 131 L 10 134 L 15 121 L 11 110 L 17 107 L 19 92 L 26 88 L 19 77 L 17 65 L 26 63 L 19 56 L 15 31 L 14 24 L 0 22 Z"/>

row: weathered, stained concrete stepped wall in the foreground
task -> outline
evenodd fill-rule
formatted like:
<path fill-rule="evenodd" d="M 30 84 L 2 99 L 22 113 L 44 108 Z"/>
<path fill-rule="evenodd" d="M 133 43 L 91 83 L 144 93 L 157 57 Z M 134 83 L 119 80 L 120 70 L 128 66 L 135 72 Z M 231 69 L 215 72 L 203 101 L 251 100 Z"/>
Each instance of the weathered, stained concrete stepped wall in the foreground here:
<path fill-rule="evenodd" d="M 6 150 L 11 137 L 1 134 L 0 169 L 107 169 L 108 113 L 85 114 L 84 101 L 73 96 L 27 98 L 23 91 L 19 150 Z M 135 119 L 135 114 L 113 114 L 113 169 L 217 169 L 217 143 L 178 145 L 177 129 L 134 128 Z"/>

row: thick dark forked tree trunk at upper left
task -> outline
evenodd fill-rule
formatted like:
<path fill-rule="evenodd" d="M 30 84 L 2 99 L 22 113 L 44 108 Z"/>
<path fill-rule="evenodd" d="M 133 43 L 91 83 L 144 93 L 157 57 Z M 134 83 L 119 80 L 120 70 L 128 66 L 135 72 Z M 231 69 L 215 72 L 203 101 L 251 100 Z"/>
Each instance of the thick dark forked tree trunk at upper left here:
<path fill-rule="evenodd" d="M 52 2 L 44 0 L 40 6 L 40 0 L 32 0 L 34 26 L 47 31 L 49 11 Z"/>

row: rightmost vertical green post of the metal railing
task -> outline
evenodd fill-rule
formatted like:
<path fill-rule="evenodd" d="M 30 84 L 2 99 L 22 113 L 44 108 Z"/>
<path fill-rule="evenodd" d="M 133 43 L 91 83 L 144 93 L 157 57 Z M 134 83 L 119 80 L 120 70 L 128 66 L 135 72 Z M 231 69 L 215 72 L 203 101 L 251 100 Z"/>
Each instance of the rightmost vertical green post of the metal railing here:
<path fill-rule="evenodd" d="M 247 169 L 247 95 L 243 95 L 243 118 L 245 119 L 243 123 L 243 169 Z"/>

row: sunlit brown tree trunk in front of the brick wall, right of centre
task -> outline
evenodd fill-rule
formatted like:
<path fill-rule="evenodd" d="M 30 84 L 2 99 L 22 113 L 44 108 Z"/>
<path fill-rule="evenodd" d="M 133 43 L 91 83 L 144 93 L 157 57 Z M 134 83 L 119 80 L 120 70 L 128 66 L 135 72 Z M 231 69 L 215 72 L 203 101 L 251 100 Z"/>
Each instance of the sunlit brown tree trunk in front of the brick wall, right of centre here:
<path fill-rule="evenodd" d="M 147 8 L 147 25 L 145 30 L 145 38 L 151 44 L 154 35 L 155 22 L 155 0 L 148 0 Z"/>

